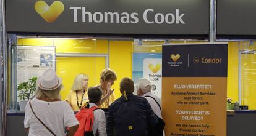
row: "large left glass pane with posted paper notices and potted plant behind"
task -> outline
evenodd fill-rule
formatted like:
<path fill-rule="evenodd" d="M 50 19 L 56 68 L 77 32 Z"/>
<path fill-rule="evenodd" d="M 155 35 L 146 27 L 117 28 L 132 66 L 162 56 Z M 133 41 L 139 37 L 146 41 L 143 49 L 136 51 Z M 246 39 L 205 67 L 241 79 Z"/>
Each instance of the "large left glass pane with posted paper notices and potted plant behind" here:
<path fill-rule="evenodd" d="M 10 45 L 9 113 L 24 111 L 23 106 L 33 97 L 35 78 L 48 68 L 56 70 L 62 78 L 62 100 L 66 98 L 75 76 L 79 73 L 88 75 L 88 87 L 98 84 L 101 71 L 109 65 L 108 45 L 99 42 L 97 45 L 97 40 L 93 38 L 17 36 Z"/>

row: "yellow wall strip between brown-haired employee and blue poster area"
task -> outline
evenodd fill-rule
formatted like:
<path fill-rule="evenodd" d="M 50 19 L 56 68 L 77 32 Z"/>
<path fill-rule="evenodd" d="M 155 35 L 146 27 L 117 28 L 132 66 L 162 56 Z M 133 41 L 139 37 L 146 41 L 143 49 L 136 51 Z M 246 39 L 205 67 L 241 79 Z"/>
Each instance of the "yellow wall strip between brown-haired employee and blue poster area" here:
<path fill-rule="evenodd" d="M 132 42 L 110 41 L 109 43 L 109 67 L 117 74 L 117 81 L 113 85 L 116 98 L 121 96 L 119 90 L 121 79 L 124 77 L 132 79 Z"/>

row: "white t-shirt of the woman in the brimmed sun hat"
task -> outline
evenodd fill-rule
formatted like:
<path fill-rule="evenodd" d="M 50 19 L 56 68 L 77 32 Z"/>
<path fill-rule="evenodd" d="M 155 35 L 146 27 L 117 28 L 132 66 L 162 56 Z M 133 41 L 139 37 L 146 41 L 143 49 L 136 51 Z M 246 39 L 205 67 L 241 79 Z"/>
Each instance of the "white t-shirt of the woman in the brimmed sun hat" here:
<path fill-rule="evenodd" d="M 64 136 L 65 127 L 72 127 L 79 124 L 79 121 L 75 118 L 74 111 L 65 101 L 46 102 L 33 98 L 31 105 L 36 116 L 38 116 L 55 135 Z M 36 119 L 29 102 L 25 107 L 24 127 L 29 127 L 29 136 L 52 135 L 51 132 Z"/>

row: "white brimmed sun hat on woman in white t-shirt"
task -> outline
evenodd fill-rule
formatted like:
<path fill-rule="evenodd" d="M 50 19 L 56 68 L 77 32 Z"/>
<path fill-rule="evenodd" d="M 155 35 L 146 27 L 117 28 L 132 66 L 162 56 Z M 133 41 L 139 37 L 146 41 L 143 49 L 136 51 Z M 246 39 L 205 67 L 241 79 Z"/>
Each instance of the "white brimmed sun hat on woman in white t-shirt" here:
<path fill-rule="evenodd" d="M 54 90 L 61 86 L 62 79 L 59 78 L 53 69 L 48 69 L 38 77 L 36 84 L 43 90 Z"/>

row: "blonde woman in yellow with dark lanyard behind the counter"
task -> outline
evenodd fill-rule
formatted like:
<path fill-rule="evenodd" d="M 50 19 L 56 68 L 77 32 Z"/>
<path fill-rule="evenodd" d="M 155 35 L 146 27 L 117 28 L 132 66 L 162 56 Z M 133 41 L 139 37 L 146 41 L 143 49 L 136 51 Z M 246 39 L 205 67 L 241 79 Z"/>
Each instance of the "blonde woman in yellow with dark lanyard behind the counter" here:
<path fill-rule="evenodd" d="M 78 111 L 88 102 L 87 88 L 89 78 L 86 74 L 78 74 L 75 77 L 72 89 L 67 95 L 66 101 L 74 111 Z"/>

